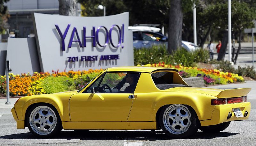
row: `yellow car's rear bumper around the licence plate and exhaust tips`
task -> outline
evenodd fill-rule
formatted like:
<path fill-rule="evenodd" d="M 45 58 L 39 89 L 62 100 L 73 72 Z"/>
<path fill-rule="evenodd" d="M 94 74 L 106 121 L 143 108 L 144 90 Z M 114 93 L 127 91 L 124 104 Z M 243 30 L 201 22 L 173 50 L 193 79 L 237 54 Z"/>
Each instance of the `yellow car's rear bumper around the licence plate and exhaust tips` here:
<path fill-rule="evenodd" d="M 235 113 L 233 112 L 234 108 L 240 108 L 241 112 L 248 112 L 246 117 L 237 118 Z M 228 113 L 232 113 L 231 118 L 227 119 Z M 251 103 L 250 102 L 242 102 L 242 103 L 233 103 L 233 104 L 225 104 L 225 105 L 216 105 L 212 112 L 212 119 L 202 120 L 201 126 L 209 126 L 209 125 L 217 125 L 223 122 L 234 121 L 234 120 L 247 120 L 251 113 Z"/>

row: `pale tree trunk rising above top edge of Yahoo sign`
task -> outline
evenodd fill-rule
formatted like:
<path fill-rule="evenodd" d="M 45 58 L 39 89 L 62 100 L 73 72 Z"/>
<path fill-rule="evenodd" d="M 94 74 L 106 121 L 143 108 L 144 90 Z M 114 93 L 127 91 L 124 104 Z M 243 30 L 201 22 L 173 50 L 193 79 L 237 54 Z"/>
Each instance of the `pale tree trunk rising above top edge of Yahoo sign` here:
<path fill-rule="evenodd" d="M 76 0 L 59 0 L 59 14 L 76 16 Z"/>

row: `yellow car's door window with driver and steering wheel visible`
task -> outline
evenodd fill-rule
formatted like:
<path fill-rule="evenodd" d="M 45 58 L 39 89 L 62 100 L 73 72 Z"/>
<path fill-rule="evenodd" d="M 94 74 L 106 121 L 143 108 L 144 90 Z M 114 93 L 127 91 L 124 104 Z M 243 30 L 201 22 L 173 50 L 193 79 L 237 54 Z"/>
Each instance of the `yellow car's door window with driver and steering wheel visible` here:
<path fill-rule="evenodd" d="M 138 72 L 110 72 L 95 81 L 85 93 L 133 93 L 139 79 Z"/>

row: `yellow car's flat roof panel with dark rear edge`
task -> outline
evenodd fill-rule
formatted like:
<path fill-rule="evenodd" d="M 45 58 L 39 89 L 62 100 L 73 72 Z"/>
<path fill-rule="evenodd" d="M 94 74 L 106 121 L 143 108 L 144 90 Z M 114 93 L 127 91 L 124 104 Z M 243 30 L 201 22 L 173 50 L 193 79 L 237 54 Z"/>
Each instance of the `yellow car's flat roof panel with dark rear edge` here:
<path fill-rule="evenodd" d="M 166 71 L 175 71 L 178 72 L 177 69 L 173 68 L 164 68 L 164 67 L 146 67 L 146 66 L 123 66 L 123 67 L 111 67 L 107 69 L 107 72 L 116 72 L 116 71 L 137 71 L 137 72 L 146 72 L 152 73 L 155 71 L 166 70 Z"/>

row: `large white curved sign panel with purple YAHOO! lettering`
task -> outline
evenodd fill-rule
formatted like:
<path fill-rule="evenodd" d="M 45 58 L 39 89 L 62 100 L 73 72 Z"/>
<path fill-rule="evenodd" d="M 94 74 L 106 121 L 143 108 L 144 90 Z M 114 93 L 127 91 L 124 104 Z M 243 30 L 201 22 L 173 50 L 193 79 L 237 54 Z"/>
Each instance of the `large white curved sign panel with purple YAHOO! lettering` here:
<path fill-rule="evenodd" d="M 34 13 L 42 72 L 133 66 L 129 13 L 71 17 Z"/>

